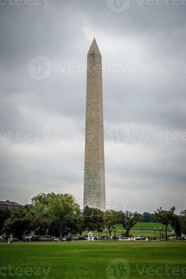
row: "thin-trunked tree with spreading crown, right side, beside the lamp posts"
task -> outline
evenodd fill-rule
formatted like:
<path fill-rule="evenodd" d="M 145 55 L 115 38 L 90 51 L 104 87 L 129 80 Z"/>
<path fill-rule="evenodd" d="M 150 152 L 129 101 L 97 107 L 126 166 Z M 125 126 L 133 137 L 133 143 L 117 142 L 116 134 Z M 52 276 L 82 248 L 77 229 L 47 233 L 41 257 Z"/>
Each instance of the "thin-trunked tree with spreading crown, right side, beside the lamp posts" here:
<path fill-rule="evenodd" d="M 163 225 L 166 226 L 165 228 L 165 238 L 167 240 L 167 227 L 168 224 L 173 220 L 174 218 L 174 212 L 175 212 L 175 206 L 171 207 L 169 210 L 162 210 L 162 207 L 157 208 L 157 211 L 154 211 L 155 214 L 155 220 L 159 221 Z"/>

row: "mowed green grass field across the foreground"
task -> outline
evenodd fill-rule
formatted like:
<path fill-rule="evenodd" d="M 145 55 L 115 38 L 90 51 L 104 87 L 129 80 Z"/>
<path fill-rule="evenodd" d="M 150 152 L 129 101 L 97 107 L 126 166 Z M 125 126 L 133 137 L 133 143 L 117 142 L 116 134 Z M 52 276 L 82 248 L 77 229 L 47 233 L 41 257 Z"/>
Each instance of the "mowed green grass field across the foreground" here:
<path fill-rule="evenodd" d="M 0 243 L 0 278 L 186 278 L 185 251 L 186 241 Z"/>

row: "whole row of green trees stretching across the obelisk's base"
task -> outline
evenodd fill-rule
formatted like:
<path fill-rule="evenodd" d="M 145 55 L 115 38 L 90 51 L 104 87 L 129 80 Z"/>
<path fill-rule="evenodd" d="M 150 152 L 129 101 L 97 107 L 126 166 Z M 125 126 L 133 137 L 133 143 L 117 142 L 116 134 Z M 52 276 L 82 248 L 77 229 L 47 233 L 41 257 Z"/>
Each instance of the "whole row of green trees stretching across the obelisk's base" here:
<path fill-rule="evenodd" d="M 148 219 L 148 218 L 151 218 Z M 162 207 L 154 211 L 154 214 L 144 212 L 119 212 L 86 206 L 83 213 L 75 198 L 71 194 L 44 194 L 40 193 L 32 198 L 31 204 L 26 204 L 16 210 L 0 210 L 0 233 L 11 234 L 19 239 L 22 235 L 28 235 L 34 231 L 36 235 L 68 235 L 82 234 L 82 231 L 91 230 L 98 232 L 108 229 L 109 235 L 116 224 L 121 224 L 129 236 L 131 228 L 138 221 L 157 221 L 166 226 L 167 240 L 168 224 L 175 229 L 177 236 L 186 234 L 186 210 L 175 214 L 175 207 L 163 210 Z"/>

